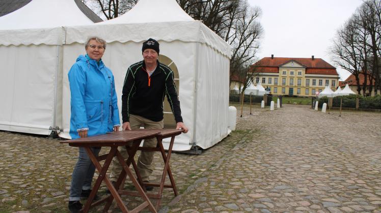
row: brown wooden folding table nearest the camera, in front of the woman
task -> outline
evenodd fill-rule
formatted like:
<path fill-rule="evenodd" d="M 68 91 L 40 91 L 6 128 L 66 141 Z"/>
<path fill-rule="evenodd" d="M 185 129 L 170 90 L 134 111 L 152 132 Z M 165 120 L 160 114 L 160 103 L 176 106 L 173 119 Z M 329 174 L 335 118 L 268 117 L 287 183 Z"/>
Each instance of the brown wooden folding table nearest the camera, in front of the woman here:
<path fill-rule="evenodd" d="M 128 131 L 113 132 L 113 133 L 107 133 L 103 135 L 97 135 L 97 136 L 91 136 L 91 137 L 85 137 L 85 138 L 78 138 L 73 140 L 66 140 L 61 142 L 62 144 L 69 144 L 69 146 L 73 146 L 73 147 L 84 147 L 91 161 L 95 165 L 95 168 L 99 172 L 98 179 L 96 180 L 94 184 L 93 190 L 91 191 L 91 194 L 84 208 L 82 209 L 83 212 L 88 212 L 91 207 L 97 206 L 105 201 L 106 201 L 106 205 L 104 206 L 103 211 L 106 212 L 108 208 L 110 208 L 110 205 L 114 198 L 118 206 L 122 210 L 122 212 L 139 212 L 146 207 L 148 207 L 151 210 L 151 212 L 157 212 L 155 207 L 152 205 L 151 201 L 149 200 L 146 192 L 142 189 L 137 179 L 135 179 L 135 177 L 133 176 L 129 168 L 129 164 L 131 162 L 134 162 L 133 157 L 135 156 L 141 141 L 143 139 L 156 137 L 156 135 L 158 135 L 160 131 L 161 130 L 144 130 L 144 129 L 143 130 L 128 130 Z M 126 147 L 126 150 L 129 153 L 129 158 L 127 159 L 127 161 L 124 161 L 122 155 L 119 153 L 118 151 L 119 146 Z M 111 149 L 110 149 L 110 152 L 108 152 L 107 154 L 95 157 L 94 153 L 90 149 L 91 147 L 110 147 Z M 120 164 L 123 167 L 122 172 L 120 173 L 120 177 L 123 177 L 124 179 L 126 175 L 128 175 L 129 179 L 132 181 L 132 184 L 135 186 L 135 188 L 138 191 L 136 195 L 141 196 L 144 201 L 142 204 L 140 204 L 139 206 L 135 207 L 132 210 L 128 210 L 127 207 L 124 205 L 120 195 L 118 194 L 118 191 L 114 188 L 110 179 L 108 179 L 106 175 L 106 171 L 108 167 L 110 166 L 110 163 L 113 157 L 115 156 L 118 158 Z M 101 166 L 99 163 L 102 160 L 105 160 L 103 166 Z M 106 184 L 107 188 L 110 190 L 111 195 L 92 203 L 102 181 Z"/>

